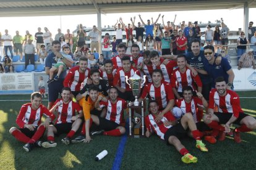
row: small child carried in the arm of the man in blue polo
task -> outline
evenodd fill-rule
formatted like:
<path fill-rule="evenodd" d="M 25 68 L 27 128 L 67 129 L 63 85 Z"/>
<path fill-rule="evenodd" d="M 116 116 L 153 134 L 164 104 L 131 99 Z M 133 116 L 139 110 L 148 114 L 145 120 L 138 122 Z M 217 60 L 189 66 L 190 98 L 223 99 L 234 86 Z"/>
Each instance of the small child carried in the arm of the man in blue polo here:
<path fill-rule="evenodd" d="M 74 63 L 74 61 L 72 60 L 72 57 L 69 55 L 70 49 L 69 49 L 69 45 L 64 45 L 62 47 L 62 56 L 65 57 L 67 60 L 70 60 L 70 62 Z M 46 83 L 51 83 L 54 80 L 58 80 L 59 79 L 59 75 L 61 75 L 62 71 L 66 71 L 66 65 L 62 62 L 61 59 L 58 59 L 58 57 L 55 57 L 56 60 L 56 64 L 49 70 L 49 79 L 48 81 L 46 81 Z M 57 75 L 53 78 L 53 74 L 54 71 L 58 70 Z"/>

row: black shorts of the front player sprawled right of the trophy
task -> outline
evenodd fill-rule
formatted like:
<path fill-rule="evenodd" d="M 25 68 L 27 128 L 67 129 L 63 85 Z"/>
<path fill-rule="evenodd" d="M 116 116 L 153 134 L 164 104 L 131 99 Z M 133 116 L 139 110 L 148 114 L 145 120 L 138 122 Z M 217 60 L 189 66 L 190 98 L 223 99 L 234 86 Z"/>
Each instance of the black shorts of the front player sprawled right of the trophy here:
<path fill-rule="evenodd" d="M 177 139 L 181 139 L 187 136 L 187 131 L 184 129 L 181 123 L 169 128 L 164 134 L 164 140 L 167 144 L 169 144 L 168 139 L 170 136 L 176 136 Z"/>

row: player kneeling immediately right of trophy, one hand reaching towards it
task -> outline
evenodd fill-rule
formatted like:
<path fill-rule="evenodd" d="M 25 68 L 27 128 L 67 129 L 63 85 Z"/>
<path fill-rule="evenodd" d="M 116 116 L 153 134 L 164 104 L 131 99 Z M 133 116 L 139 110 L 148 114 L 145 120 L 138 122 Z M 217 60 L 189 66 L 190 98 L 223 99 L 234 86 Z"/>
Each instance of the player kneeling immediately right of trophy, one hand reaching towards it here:
<path fill-rule="evenodd" d="M 139 102 L 142 102 L 142 100 L 149 95 L 151 100 L 156 100 L 161 110 L 161 114 L 157 116 L 157 121 L 160 121 L 160 119 L 163 118 L 163 115 L 170 111 L 174 106 L 174 95 L 173 91 L 171 90 L 171 84 L 162 81 L 162 79 L 162 71 L 159 69 L 153 70 L 153 83 L 148 83 L 144 87 L 142 95 L 139 99 Z"/>

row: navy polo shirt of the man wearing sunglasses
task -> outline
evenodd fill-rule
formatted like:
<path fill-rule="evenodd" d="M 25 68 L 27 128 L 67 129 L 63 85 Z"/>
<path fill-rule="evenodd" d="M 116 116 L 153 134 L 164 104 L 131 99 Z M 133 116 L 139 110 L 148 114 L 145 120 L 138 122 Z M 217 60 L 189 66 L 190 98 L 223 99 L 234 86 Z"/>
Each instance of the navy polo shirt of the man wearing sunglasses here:
<path fill-rule="evenodd" d="M 216 58 L 215 58 L 216 59 Z M 213 65 L 211 65 L 208 60 L 203 61 L 204 69 L 207 71 L 208 75 L 211 76 L 211 78 L 216 79 L 219 76 L 223 76 L 226 83 L 228 83 L 228 73 L 227 71 L 231 69 L 231 66 L 227 59 L 222 58 L 220 65 L 216 65 L 214 62 Z M 215 84 L 212 84 L 212 87 L 215 87 Z"/>

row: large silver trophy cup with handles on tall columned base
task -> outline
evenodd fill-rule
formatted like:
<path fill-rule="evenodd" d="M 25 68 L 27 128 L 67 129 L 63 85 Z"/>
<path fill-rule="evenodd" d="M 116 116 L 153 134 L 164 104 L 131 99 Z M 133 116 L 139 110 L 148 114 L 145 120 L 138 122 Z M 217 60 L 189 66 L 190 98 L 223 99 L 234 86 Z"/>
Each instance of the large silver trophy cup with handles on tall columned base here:
<path fill-rule="evenodd" d="M 146 76 L 143 76 L 143 82 L 142 78 L 138 76 L 136 73 L 134 76 L 128 78 L 126 76 L 126 83 L 130 86 L 132 89 L 132 94 L 135 97 L 135 101 L 132 105 L 132 103 L 129 103 L 129 136 L 132 136 L 132 108 L 141 108 L 142 109 L 142 115 L 139 115 L 138 113 L 134 113 L 134 137 L 138 138 L 140 137 L 140 125 L 142 125 L 142 136 L 144 136 L 144 109 L 143 109 L 143 101 L 140 105 L 138 101 L 138 97 L 140 95 L 140 89 L 142 88 L 142 85 L 146 81 Z"/>

